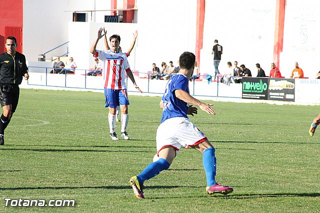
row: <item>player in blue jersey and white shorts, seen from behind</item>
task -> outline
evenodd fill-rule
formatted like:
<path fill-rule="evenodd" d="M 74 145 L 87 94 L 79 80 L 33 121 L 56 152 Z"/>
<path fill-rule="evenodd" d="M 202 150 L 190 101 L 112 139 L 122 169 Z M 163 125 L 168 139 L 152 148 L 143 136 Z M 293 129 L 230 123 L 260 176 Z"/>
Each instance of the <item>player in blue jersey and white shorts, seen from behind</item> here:
<path fill-rule="evenodd" d="M 211 108 L 213 104 L 203 103 L 189 94 L 188 81 L 193 73 L 195 55 L 191 52 L 183 52 L 179 61 L 180 71 L 169 79 L 160 101 L 163 112 L 161 124 L 156 131 L 157 154 L 153 162 L 148 164 L 140 174 L 130 178 L 130 185 L 138 198 L 144 198 L 143 182 L 159 174 L 160 171 L 168 169 L 181 146 L 195 148 L 203 154 L 207 194 L 228 194 L 233 191 L 231 187 L 215 182 L 214 147 L 187 117 L 187 114 L 193 116 L 197 113 L 197 108 L 192 105 L 199 106 L 208 114 L 215 114 L 215 110 Z"/>

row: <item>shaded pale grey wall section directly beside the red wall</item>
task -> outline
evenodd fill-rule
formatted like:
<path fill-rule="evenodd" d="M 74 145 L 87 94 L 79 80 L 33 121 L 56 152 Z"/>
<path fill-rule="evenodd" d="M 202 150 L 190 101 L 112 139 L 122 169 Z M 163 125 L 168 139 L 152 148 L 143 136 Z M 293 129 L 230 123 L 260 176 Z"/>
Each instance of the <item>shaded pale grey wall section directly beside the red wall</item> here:
<path fill-rule="evenodd" d="M 38 60 L 38 54 L 67 41 L 67 21 L 72 14 L 63 10 L 67 10 L 66 0 L 23 0 L 23 53 L 27 60 Z M 47 58 L 66 51 L 66 46 L 61 47 Z"/>

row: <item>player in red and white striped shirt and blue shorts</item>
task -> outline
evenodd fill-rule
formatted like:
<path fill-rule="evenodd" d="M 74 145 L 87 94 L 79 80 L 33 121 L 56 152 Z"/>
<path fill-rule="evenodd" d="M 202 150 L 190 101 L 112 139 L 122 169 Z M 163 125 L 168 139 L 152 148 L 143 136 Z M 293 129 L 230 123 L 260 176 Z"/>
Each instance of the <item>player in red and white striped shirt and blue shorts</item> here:
<path fill-rule="evenodd" d="M 104 79 L 104 95 L 105 95 L 105 107 L 109 108 L 108 121 L 110 127 L 110 137 L 112 140 L 117 140 L 118 137 L 115 133 L 115 113 L 116 106 L 120 105 L 121 108 L 121 137 L 129 139 L 126 132 L 126 126 L 128 123 L 128 95 L 125 85 L 125 72 L 132 81 L 134 87 L 139 91 L 140 88 L 136 85 L 133 74 L 131 72 L 129 63 L 125 53 L 118 50 L 120 43 L 119 35 L 112 35 L 110 40 L 110 50 L 96 50 L 96 44 L 102 35 L 102 28 L 99 28 L 97 38 L 93 42 L 90 52 L 103 61 L 102 75 Z M 124 72 L 125 71 L 125 72 Z"/>

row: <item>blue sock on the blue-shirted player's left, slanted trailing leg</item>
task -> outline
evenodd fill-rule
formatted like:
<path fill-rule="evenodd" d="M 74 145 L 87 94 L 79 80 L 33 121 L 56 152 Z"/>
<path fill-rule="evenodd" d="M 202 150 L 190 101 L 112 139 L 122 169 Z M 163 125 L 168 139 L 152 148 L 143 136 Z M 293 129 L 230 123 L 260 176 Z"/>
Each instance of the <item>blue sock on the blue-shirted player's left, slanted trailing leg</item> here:
<path fill-rule="evenodd" d="M 158 175 L 160 171 L 168 169 L 169 167 L 170 164 L 168 163 L 168 161 L 163 158 L 159 158 L 157 161 L 148 164 L 145 169 L 139 175 L 137 175 L 137 178 L 140 182 L 143 183 L 144 180 Z"/>

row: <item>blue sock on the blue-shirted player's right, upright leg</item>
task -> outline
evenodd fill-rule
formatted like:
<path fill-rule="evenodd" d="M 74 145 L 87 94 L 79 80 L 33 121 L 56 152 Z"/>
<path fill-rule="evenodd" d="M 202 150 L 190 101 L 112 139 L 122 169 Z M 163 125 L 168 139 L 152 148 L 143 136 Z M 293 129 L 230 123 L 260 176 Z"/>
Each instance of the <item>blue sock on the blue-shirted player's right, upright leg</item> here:
<path fill-rule="evenodd" d="M 214 148 L 205 149 L 203 154 L 203 167 L 206 175 L 206 185 L 211 186 L 215 184 L 216 173 L 216 158 L 214 156 Z"/>

